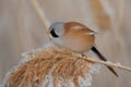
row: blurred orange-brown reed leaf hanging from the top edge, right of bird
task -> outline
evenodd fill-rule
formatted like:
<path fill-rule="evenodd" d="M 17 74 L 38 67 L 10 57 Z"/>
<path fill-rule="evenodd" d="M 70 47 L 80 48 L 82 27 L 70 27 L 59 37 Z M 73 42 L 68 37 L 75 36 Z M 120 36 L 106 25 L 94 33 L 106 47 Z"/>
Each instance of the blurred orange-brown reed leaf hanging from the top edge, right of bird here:
<path fill-rule="evenodd" d="M 100 0 L 88 0 L 88 1 L 92 5 L 93 14 L 96 18 L 98 26 L 103 29 L 110 29 L 111 28 L 110 16 L 105 12 Z"/>

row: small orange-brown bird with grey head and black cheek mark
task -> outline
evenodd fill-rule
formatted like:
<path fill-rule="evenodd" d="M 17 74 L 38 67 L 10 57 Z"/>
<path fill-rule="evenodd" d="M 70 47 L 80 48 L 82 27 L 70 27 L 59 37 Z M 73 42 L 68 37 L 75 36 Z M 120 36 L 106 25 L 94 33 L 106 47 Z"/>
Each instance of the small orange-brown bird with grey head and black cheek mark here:
<path fill-rule="evenodd" d="M 47 33 L 49 39 L 58 47 L 64 47 L 73 52 L 84 54 L 92 50 L 100 60 L 107 59 L 99 52 L 95 45 L 95 33 L 80 22 L 55 22 Z M 117 77 L 117 72 L 109 65 L 106 65 Z"/>

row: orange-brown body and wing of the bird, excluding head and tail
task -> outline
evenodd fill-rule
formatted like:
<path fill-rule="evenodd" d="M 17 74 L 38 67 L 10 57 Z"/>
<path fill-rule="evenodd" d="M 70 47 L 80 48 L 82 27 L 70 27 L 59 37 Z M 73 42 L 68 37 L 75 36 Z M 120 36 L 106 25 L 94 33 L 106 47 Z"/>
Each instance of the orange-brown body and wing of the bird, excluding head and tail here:
<path fill-rule="evenodd" d="M 90 35 L 94 32 L 88 27 L 76 22 L 69 22 L 66 23 L 64 28 L 63 44 L 67 48 L 75 52 L 85 52 L 93 47 L 95 36 Z"/>

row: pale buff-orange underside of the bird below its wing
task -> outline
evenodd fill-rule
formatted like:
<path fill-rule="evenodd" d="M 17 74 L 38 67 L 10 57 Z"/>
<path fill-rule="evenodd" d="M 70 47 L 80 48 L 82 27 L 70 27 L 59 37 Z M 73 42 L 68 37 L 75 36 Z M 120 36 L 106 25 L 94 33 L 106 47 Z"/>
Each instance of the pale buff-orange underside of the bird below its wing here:
<path fill-rule="evenodd" d="M 66 36 L 63 39 L 63 46 L 75 52 L 85 52 L 94 45 L 94 36 Z"/>

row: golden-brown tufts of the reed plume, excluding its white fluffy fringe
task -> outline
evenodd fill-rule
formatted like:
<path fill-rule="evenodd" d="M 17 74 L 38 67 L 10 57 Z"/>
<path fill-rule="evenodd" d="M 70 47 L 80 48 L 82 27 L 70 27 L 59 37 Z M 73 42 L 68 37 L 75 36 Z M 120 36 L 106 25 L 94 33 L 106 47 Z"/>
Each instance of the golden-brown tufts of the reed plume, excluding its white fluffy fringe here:
<path fill-rule="evenodd" d="M 28 53 L 32 54 L 33 53 Z M 72 78 L 75 87 L 80 87 L 79 77 L 84 78 L 90 73 L 93 62 L 75 55 L 69 50 L 45 50 L 34 52 L 35 58 L 21 65 L 8 79 L 8 87 L 38 87 L 45 80 L 46 75 L 51 73 L 53 87 L 58 87 L 58 77 L 63 78 L 61 87 L 64 87 Z"/>

